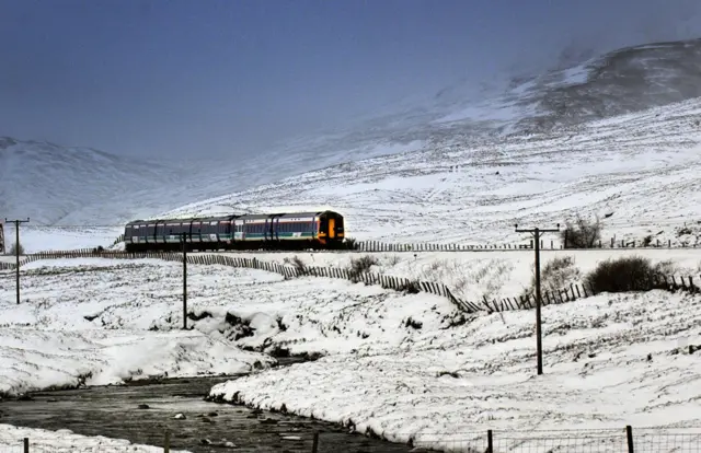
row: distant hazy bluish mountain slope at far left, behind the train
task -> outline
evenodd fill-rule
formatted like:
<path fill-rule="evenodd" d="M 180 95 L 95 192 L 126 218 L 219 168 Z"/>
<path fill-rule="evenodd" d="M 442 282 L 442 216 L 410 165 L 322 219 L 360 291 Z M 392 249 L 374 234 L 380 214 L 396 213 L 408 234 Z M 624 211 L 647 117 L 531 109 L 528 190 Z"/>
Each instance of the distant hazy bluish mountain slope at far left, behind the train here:
<path fill-rule="evenodd" d="M 131 191 L 162 187 L 174 177 L 173 170 L 151 162 L 88 148 L 0 138 L 0 216 L 30 217 L 35 224 L 61 222 L 85 207 L 95 221 L 114 222 L 129 213 L 115 211 L 107 200 L 130 199 Z"/>

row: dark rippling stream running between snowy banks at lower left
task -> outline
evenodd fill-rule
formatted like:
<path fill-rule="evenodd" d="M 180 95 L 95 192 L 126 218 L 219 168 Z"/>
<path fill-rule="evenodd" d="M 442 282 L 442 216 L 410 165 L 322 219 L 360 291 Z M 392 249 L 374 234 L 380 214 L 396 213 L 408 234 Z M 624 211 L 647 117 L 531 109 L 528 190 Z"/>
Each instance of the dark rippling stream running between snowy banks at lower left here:
<path fill-rule="evenodd" d="M 0 423 L 69 429 L 192 452 L 410 452 L 409 445 L 349 433 L 332 423 L 242 406 L 205 402 L 212 385 L 235 378 L 174 379 L 158 383 L 102 386 L 31 394 L 33 400 L 0 403 Z M 146 404 L 148 409 L 139 409 Z M 174 416 L 183 414 L 185 419 Z M 222 442 L 231 442 L 225 446 Z"/>

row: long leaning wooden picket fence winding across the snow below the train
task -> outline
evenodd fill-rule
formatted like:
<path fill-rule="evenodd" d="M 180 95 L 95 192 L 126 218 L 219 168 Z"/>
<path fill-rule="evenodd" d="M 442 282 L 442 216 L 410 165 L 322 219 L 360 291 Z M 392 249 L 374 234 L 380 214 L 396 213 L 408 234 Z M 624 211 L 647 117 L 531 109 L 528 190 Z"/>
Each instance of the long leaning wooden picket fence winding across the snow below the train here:
<path fill-rule="evenodd" d="M 71 252 L 41 252 L 32 255 L 27 255 L 20 262 L 20 266 L 27 263 L 42 260 L 42 259 L 60 259 L 60 258 L 87 258 L 87 257 L 101 257 L 101 258 L 115 258 L 115 259 L 141 259 L 141 258 L 154 258 L 163 259 L 168 262 L 182 262 L 183 256 L 180 253 L 174 252 L 145 252 L 145 253 L 128 253 L 128 252 L 112 252 L 112 251 L 94 251 L 94 249 L 80 249 Z M 338 278 L 350 280 L 354 282 L 363 282 L 366 284 L 378 284 L 384 289 L 394 291 L 403 291 L 409 293 L 425 292 L 439 297 L 447 298 L 459 310 L 464 313 L 478 313 L 486 311 L 489 313 L 505 312 L 513 310 L 530 310 L 536 307 L 535 294 L 501 298 L 487 300 L 484 298 L 482 301 L 469 301 L 455 295 L 455 293 L 445 283 L 434 281 L 421 281 L 409 279 L 405 277 L 388 276 L 384 274 L 375 272 L 354 272 L 353 270 L 336 267 L 317 267 L 317 266 L 290 266 L 281 265 L 278 263 L 260 260 L 257 258 L 245 258 L 222 254 L 194 254 L 187 255 L 187 263 L 195 265 L 220 265 L 239 268 L 258 269 L 268 272 L 275 272 L 284 276 L 286 279 L 300 278 L 300 277 L 324 277 L 324 278 Z M 14 263 L 0 263 L 0 269 L 13 269 Z M 679 277 L 679 276 L 663 276 L 658 279 L 651 280 L 645 284 L 642 290 L 669 290 L 677 291 L 683 290 L 689 292 L 700 292 L 699 283 L 701 277 L 694 281 L 694 277 Z M 588 298 L 596 295 L 597 291 L 590 286 L 585 283 L 570 284 L 566 288 L 562 288 L 558 291 L 544 291 L 542 293 L 542 305 L 562 304 L 566 302 L 574 302 L 577 299 Z"/>

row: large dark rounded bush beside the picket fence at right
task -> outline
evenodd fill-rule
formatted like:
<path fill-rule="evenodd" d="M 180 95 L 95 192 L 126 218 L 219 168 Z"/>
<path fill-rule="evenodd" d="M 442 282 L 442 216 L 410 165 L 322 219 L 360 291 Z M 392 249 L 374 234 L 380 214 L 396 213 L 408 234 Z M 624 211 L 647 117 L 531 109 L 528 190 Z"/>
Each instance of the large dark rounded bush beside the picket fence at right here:
<path fill-rule="evenodd" d="M 669 262 L 653 266 L 647 258 L 628 256 L 599 263 L 586 276 L 585 282 L 595 293 L 648 291 L 671 271 Z"/>

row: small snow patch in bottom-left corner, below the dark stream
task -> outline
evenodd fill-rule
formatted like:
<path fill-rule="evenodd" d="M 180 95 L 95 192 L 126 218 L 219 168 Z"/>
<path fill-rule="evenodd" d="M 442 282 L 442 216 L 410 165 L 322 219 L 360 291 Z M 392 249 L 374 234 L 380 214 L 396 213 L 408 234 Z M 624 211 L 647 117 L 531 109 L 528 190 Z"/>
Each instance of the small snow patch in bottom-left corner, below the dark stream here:
<path fill-rule="evenodd" d="M 157 453 L 163 451 L 161 448 L 134 444 L 126 440 L 74 434 L 69 430 L 48 431 L 44 429 L 0 425 L 0 451 L 2 453 L 23 452 L 24 438 L 30 439 L 30 451 L 37 453 L 123 453 L 126 451 L 135 453 Z M 185 452 L 184 450 L 171 451 L 173 453 Z"/>

